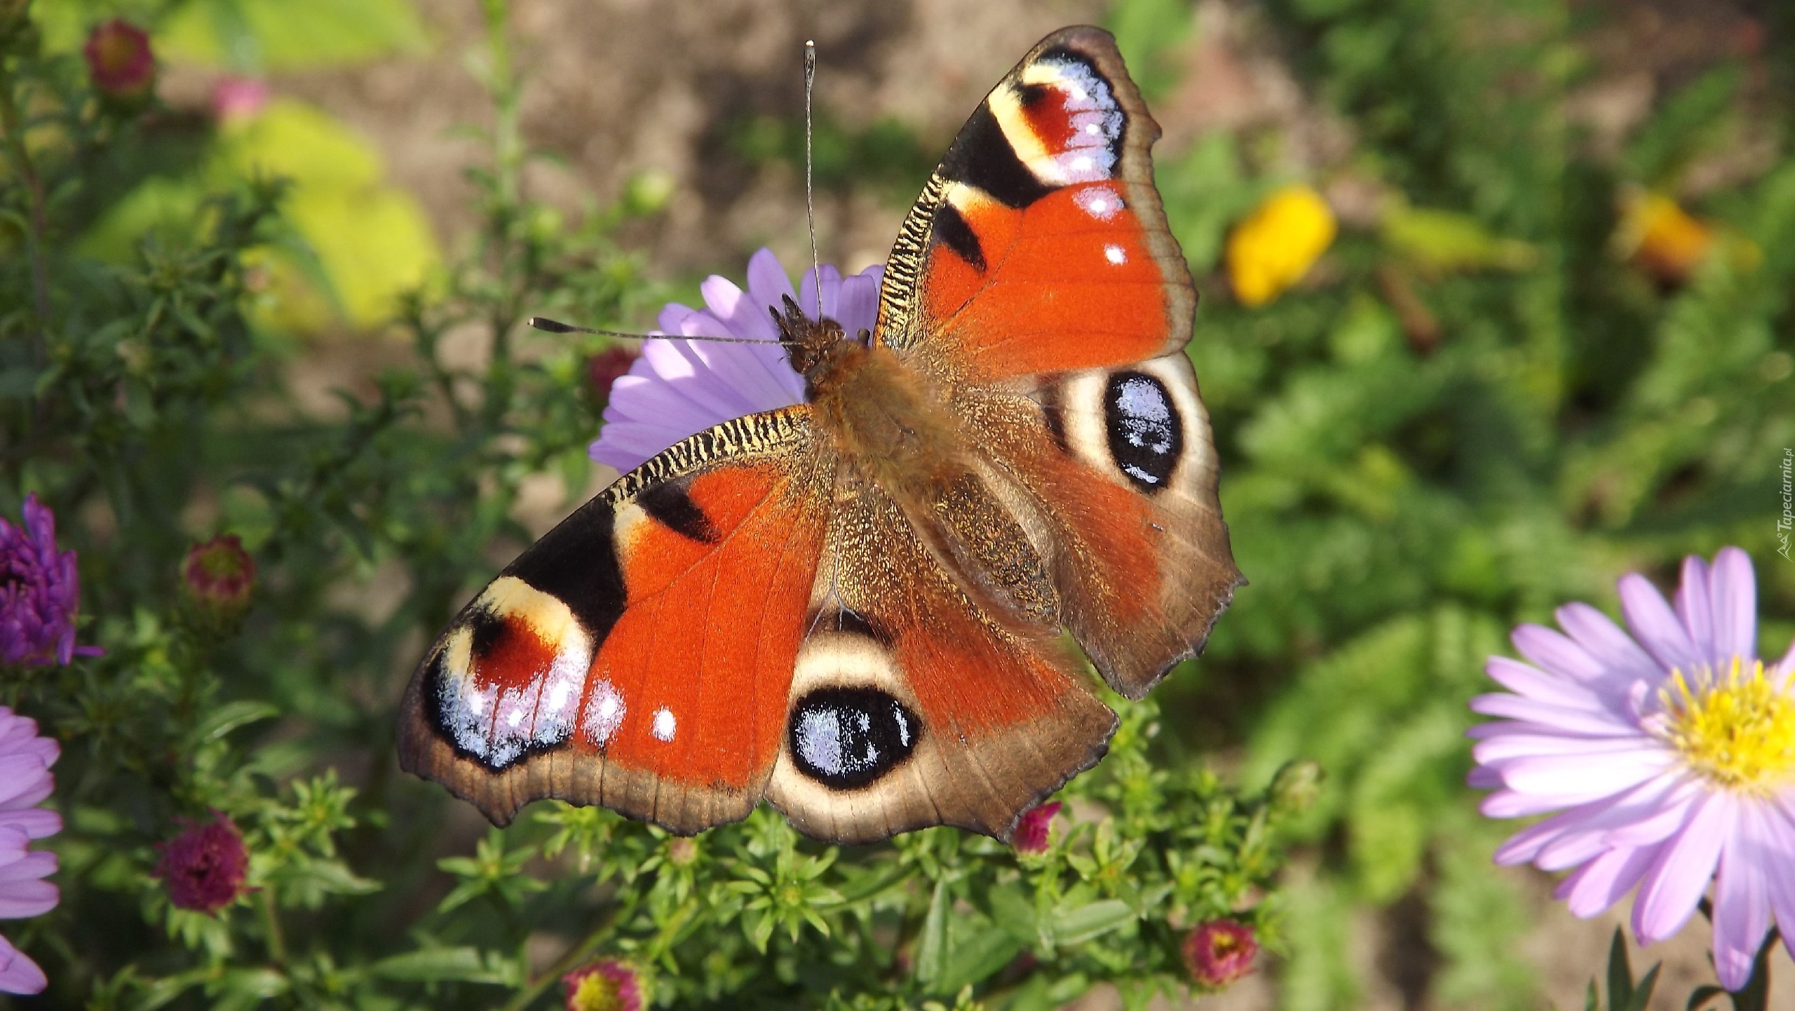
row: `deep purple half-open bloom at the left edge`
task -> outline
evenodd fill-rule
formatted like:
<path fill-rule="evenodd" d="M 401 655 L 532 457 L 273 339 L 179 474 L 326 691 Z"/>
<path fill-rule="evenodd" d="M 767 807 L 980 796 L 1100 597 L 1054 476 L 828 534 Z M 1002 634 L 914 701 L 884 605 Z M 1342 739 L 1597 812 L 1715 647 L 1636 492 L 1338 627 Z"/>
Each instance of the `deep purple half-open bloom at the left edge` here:
<path fill-rule="evenodd" d="M 0 519 L 0 664 L 66 664 L 75 654 L 99 655 L 75 645 L 75 607 L 81 589 L 75 553 L 56 549 L 56 517 L 25 496 L 25 526 Z"/>

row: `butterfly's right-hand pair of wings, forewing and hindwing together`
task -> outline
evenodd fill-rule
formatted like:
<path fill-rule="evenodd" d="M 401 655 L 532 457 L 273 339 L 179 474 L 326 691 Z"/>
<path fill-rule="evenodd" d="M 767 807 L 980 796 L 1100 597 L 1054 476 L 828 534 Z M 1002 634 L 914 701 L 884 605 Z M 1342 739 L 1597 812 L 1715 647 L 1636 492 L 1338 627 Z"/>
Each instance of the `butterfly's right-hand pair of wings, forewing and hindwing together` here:
<path fill-rule="evenodd" d="M 1152 185 L 1158 136 L 1109 32 L 1045 38 L 905 221 L 876 334 L 1039 505 L 1063 620 L 1131 699 L 1244 584 L 1183 354 L 1195 289 Z"/>

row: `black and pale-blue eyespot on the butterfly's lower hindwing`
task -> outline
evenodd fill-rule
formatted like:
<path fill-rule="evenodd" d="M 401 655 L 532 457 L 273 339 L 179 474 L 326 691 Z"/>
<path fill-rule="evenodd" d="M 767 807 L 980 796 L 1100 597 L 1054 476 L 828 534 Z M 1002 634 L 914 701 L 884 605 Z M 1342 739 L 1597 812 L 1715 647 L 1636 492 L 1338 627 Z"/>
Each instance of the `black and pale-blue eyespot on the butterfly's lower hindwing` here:
<path fill-rule="evenodd" d="M 799 772 L 831 790 L 865 787 L 915 751 L 923 722 L 878 688 L 819 688 L 799 699 L 786 745 Z"/>

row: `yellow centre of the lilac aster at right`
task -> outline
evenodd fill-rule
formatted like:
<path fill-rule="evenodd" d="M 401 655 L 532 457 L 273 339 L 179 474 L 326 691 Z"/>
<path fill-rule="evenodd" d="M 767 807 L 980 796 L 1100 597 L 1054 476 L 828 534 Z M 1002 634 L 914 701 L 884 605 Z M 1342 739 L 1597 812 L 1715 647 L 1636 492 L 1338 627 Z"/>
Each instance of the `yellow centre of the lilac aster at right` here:
<path fill-rule="evenodd" d="M 1703 668 L 1694 684 L 1680 670 L 1660 690 L 1669 740 L 1709 781 L 1729 790 L 1768 794 L 1795 772 L 1795 699 L 1750 672 L 1739 657 L 1725 677 Z"/>

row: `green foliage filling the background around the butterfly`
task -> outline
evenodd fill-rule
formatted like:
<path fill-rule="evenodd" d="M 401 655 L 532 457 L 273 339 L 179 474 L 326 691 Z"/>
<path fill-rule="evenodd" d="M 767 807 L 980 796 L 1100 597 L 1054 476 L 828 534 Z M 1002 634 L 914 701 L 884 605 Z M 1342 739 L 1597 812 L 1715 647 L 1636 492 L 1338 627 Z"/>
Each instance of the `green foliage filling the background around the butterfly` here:
<path fill-rule="evenodd" d="M 57 510 L 83 641 L 108 650 L 0 686 L 65 742 L 63 905 L 5 928 L 50 971 L 36 1004 L 547 1007 L 560 971 L 610 955 L 664 1006 L 1052 1007 L 1099 980 L 1138 1006 L 1183 986 L 1188 927 L 1233 914 L 1278 952 L 1282 1006 L 1353 1007 L 1353 918 L 1409 901 L 1434 1000 L 1537 1007 L 1513 954 L 1529 912 L 1490 867 L 1511 826 L 1463 785 L 1483 659 L 1517 621 L 1612 611 L 1619 573 L 1669 584 L 1721 544 L 1757 560 L 1763 652 L 1795 636 L 1795 566 L 1775 555 L 1795 445 L 1788 81 L 1748 93 L 1741 61 L 1718 61 L 1607 156 L 1565 111 L 1598 74 L 1581 40 L 1599 7 L 1273 0 L 1267 45 L 1350 151 L 1298 167 L 1265 126 L 1156 153 L 1204 293 L 1190 354 L 1253 582 L 1203 661 L 1122 706 L 1113 754 L 1066 792 L 1075 828 L 1043 857 L 955 830 L 836 849 L 761 812 L 675 858 L 653 830 L 544 804 L 476 844 L 465 808 L 395 776 L 395 679 L 528 542 L 521 485 L 587 485 L 601 391 L 583 361 L 603 343 L 521 320 L 646 318 L 675 287 L 616 233 L 664 194 L 574 221 L 530 201 L 497 2 L 474 61 L 494 108 L 470 167 L 481 226 L 452 257 L 316 110 L 232 131 L 97 102 L 77 52 L 111 14 L 237 72 L 427 45 L 400 0 L 39 0 L 4 40 L 0 512 L 27 490 Z M 1190 5 L 1122 0 L 1109 25 L 1149 99 L 1174 95 Z M 1786 74 L 1790 25 L 1766 27 L 1759 65 Z M 1677 192 L 1747 127 L 1773 156 L 1689 207 L 1754 255 L 1678 286 L 1616 257 L 1628 187 Z M 731 142 L 750 165 L 802 153 L 775 119 Z M 933 154 L 901 124 L 827 117 L 817 149 L 820 185 L 889 199 Z M 1226 232 L 1292 180 L 1373 189 L 1382 210 L 1244 309 Z M 373 282 L 345 241 L 370 207 L 393 223 L 373 260 L 402 268 Z M 300 409 L 302 334 L 377 321 L 406 338 L 377 395 Z M 442 354 L 468 330 L 492 341 L 481 368 Z M 228 636 L 174 602 L 183 551 L 214 532 L 260 567 Z M 1291 760 L 1327 772 L 1307 812 L 1269 788 Z M 171 909 L 151 876 L 156 842 L 208 810 L 244 828 L 260 887 L 219 918 Z M 1305 873 L 1267 900 L 1287 840 Z"/>

